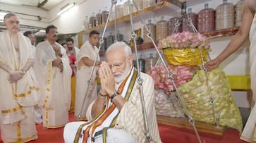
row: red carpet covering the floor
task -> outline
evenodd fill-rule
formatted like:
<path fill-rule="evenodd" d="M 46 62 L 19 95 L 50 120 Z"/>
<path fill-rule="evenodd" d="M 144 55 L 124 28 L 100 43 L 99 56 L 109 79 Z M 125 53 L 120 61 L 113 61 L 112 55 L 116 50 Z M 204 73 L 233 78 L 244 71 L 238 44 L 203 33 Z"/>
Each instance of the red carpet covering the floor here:
<path fill-rule="evenodd" d="M 73 113 L 70 114 L 71 121 L 74 120 Z M 44 130 L 42 124 L 37 125 L 39 138 L 29 143 L 61 143 L 63 141 L 63 128 Z M 193 130 L 173 128 L 168 125 L 159 124 L 159 132 L 163 143 L 197 143 L 197 137 Z M 206 143 L 245 143 L 239 139 L 239 132 L 227 129 L 223 136 L 210 135 L 200 132 L 200 137 Z M 0 137 L 0 143 L 3 143 Z"/>

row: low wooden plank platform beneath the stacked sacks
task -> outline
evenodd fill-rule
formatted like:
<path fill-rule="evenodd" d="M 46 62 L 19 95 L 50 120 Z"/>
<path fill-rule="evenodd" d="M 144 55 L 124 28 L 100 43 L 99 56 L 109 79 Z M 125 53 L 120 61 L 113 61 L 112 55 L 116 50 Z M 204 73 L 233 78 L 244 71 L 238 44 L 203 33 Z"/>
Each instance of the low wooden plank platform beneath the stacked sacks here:
<path fill-rule="evenodd" d="M 184 128 L 188 130 L 193 130 L 193 126 L 188 122 L 188 118 L 171 118 L 166 116 L 157 116 L 157 123 L 170 125 L 176 128 Z M 205 132 L 213 135 L 224 135 L 226 127 L 219 126 L 216 128 L 215 125 L 209 123 L 202 123 L 195 121 L 195 127 L 198 132 Z"/>

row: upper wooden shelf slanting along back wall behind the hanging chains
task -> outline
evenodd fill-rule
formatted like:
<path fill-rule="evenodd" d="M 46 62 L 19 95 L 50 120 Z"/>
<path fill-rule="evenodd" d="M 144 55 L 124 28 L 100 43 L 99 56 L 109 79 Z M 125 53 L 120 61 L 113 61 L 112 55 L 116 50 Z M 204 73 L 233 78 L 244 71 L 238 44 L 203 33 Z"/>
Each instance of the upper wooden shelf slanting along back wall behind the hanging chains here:
<path fill-rule="evenodd" d="M 154 6 L 150 6 L 148 8 L 142 9 L 140 11 L 140 14 L 144 15 L 145 13 L 149 13 L 149 12 L 154 12 L 154 11 L 158 11 L 158 10 L 162 11 L 163 8 L 172 8 L 171 6 L 179 6 L 179 7 L 181 6 L 181 2 L 180 1 L 178 1 L 178 0 L 172 0 L 172 1 L 173 1 L 173 3 L 164 2 L 164 4 L 162 6 L 154 5 Z M 134 12 L 134 13 L 132 13 L 132 15 L 133 15 L 133 18 L 135 18 L 135 17 L 137 17 L 139 15 L 139 13 L 138 12 Z M 128 21 L 130 21 L 130 15 L 124 15 L 121 18 L 117 18 L 116 19 L 117 23 L 128 22 Z M 114 24 L 115 24 L 115 21 L 111 20 L 111 21 L 109 21 L 107 26 L 108 27 L 111 27 L 111 26 L 113 27 Z M 83 35 L 86 35 L 86 34 L 88 34 L 92 30 L 101 30 L 101 29 L 104 28 L 104 26 L 105 26 L 104 24 L 98 25 L 96 27 L 92 27 L 92 28 L 90 28 L 88 30 L 83 30 L 81 32 L 83 33 Z"/>

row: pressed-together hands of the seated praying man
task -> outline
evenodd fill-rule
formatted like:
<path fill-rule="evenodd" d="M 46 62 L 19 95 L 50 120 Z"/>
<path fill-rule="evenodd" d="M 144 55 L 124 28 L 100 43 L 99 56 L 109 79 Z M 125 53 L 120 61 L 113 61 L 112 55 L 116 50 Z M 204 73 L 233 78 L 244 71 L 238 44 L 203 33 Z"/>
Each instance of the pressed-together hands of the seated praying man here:
<path fill-rule="evenodd" d="M 99 78 L 102 87 L 102 94 L 106 91 L 107 94 L 111 95 L 116 92 L 114 75 L 106 62 L 102 62 L 99 66 Z"/>

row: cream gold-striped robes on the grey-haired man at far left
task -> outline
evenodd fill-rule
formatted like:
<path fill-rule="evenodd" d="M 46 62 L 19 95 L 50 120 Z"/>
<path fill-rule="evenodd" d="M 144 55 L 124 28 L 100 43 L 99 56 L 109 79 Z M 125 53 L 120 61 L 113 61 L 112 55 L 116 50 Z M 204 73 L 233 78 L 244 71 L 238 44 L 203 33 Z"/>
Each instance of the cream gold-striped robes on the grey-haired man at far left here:
<path fill-rule="evenodd" d="M 0 63 L 13 71 L 20 71 L 28 61 L 33 61 L 32 45 L 28 37 L 18 32 L 18 51 L 10 34 L 0 33 Z M 11 84 L 5 70 L 0 68 L 1 137 L 4 142 L 28 142 L 37 138 L 32 107 L 39 100 L 37 80 L 30 68 L 18 82 Z"/>

